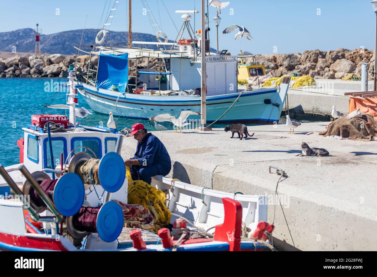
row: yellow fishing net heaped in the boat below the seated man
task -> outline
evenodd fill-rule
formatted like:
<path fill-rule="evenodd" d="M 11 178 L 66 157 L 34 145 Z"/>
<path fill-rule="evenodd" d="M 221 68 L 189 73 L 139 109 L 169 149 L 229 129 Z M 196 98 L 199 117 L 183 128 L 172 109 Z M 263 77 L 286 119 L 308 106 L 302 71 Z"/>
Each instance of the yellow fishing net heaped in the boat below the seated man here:
<path fill-rule="evenodd" d="M 171 213 L 165 205 L 165 193 L 142 180 L 133 181 L 130 167 L 126 167 L 128 182 L 128 204 L 147 207 L 154 218 L 153 233 L 170 223 Z"/>

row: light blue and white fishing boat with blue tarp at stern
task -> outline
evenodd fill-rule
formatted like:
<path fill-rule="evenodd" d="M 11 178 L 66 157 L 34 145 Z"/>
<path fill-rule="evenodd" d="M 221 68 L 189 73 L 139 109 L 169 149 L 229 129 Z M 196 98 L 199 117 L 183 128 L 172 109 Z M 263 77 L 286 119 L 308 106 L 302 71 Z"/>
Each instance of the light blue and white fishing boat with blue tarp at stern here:
<path fill-rule="evenodd" d="M 159 41 L 156 42 L 131 41 L 129 38 L 127 47 L 99 43 L 93 45 L 90 51 L 76 47 L 79 52 L 90 55 L 89 61 L 93 56 L 99 56 L 97 67 L 89 62 L 80 83 L 83 87 L 78 89 L 89 106 L 99 113 L 111 111 L 114 116 L 128 118 L 149 119 L 162 113 L 178 118 L 182 110 L 201 112 L 205 101 L 205 116 L 200 118 L 205 122 L 279 122 L 288 86 L 258 87 L 252 91 L 240 89 L 239 56 L 227 55 L 226 50 L 210 52 L 209 28 L 194 32 L 190 24 L 191 14 L 198 11 L 176 13 L 182 14 L 183 24 L 174 42 L 167 42 L 167 38 L 163 41 L 159 37 L 163 33 L 158 31 L 156 38 Z M 106 34 L 102 31 L 99 34 Z M 182 38 L 185 34 L 189 39 Z M 178 37 L 180 39 L 177 40 Z M 142 47 L 132 47 L 135 44 Z M 157 69 L 150 68 L 151 59 L 158 61 Z M 139 66 L 140 60 L 147 60 L 147 65 Z M 201 85 L 203 68 L 206 72 L 204 90 Z M 254 73 L 251 75 L 258 75 L 259 67 Z M 199 116 L 190 118 L 198 120 Z"/>

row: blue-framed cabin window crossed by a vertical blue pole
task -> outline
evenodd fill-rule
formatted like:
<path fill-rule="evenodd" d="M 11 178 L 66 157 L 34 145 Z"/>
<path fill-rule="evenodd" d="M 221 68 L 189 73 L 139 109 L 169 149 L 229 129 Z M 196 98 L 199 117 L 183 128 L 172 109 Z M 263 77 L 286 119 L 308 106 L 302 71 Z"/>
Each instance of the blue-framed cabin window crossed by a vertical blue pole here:
<path fill-rule="evenodd" d="M 52 144 L 52 155 L 54 156 L 54 166 L 51 167 L 51 155 L 50 155 L 50 144 L 48 138 L 43 140 L 43 157 L 44 168 L 55 168 L 57 165 L 61 164 L 60 154 L 63 153 L 63 163 L 67 159 L 67 141 L 63 137 L 51 138 Z"/>

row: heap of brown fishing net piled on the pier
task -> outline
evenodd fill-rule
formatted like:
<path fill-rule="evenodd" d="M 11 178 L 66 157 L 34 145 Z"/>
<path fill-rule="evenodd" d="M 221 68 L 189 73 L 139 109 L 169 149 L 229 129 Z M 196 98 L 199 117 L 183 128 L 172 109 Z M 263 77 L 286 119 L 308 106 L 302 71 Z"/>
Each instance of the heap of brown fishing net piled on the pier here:
<path fill-rule="evenodd" d="M 373 116 L 362 113 L 361 118 L 347 119 L 347 116 L 336 119 L 327 125 L 322 136 L 341 136 L 355 141 L 371 141 L 377 133 L 377 122 Z"/>

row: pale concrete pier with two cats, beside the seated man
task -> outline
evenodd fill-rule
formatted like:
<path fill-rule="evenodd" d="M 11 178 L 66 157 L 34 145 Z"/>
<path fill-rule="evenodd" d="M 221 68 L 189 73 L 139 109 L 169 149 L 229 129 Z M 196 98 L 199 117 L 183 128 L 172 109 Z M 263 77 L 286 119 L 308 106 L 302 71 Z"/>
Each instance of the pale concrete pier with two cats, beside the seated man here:
<path fill-rule="evenodd" d="M 276 226 L 278 249 L 375 250 L 377 141 L 319 136 L 328 123 L 304 123 L 294 134 L 288 134 L 283 124 L 249 126 L 249 133 L 255 135 L 242 140 L 237 134 L 231 139 L 224 129 L 153 134 L 172 158 L 169 177 L 215 190 L 267 195 L 268 222 Z M 325 148 L 330 156 L 295 156 L 302 152 L 302 141 Z M 123 158 L 133 157 L 135 150 L 135 139 L 124 138 Z M 288 174 L 277 193 L 290 231 L 274 199 L 280 176 L 268 173 L 270 165 Z"/>

